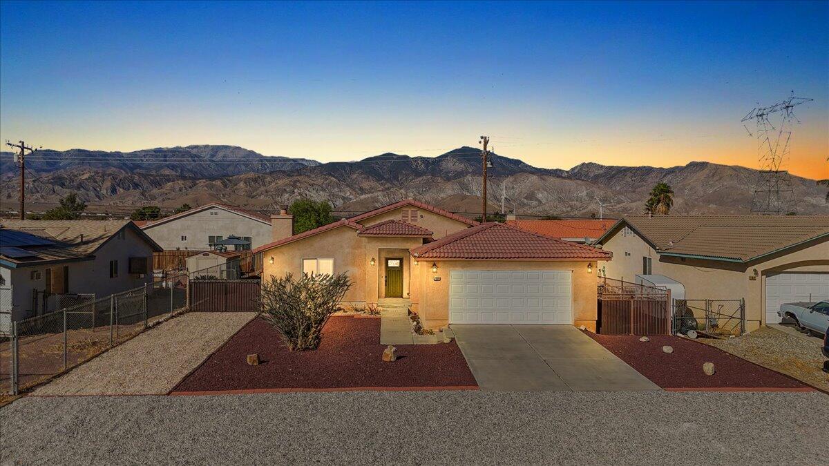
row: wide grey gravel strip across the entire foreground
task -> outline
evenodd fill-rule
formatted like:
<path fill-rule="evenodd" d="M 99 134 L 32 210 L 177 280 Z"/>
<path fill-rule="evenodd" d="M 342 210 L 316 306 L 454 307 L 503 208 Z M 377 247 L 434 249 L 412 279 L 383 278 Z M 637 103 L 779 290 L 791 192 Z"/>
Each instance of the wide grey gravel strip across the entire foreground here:
<path fill-rule="evenodd" d="M 820 392 L 26 397 L 0 464 L 823 464 L 827 418 Z"/>

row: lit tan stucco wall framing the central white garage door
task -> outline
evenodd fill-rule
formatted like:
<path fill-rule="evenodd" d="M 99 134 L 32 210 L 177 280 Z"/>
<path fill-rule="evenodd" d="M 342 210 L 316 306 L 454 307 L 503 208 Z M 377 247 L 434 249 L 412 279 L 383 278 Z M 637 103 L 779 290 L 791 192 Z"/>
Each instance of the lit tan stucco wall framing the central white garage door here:
<path fill-rule="evenodd" d="M 433 262 L 438 272 L 432 272 Z M 573 279 L 573 324 L 596 330 L 596 274 L 587 272 L 587 261 L 532 260 L 419 260 L 416 271 L 417 293 L 412 308 L 428 328 L 438 328 L 449 318 L 449 272 L 451 270 L 570 270 Z M 593 262 L 595 268 L 595 262 Z M 439 277 L 440 281 L 434 281 Z M 414 288 L 414 287 L 413 287 Z"/>

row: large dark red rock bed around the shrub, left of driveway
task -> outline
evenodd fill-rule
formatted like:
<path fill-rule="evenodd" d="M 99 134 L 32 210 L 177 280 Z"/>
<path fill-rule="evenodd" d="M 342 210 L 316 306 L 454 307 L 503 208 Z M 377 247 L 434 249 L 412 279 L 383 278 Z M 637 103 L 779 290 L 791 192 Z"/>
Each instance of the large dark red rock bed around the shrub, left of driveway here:
<path fill-rule="evenodd" d="M 333 316 L 315 351 L 290 352 L 279 333 L 256 318 L 173 389 L 176 392 L 394 387 L 475 388 L 458 345 L 399 345 L 382 362 L 380 319 Z M 259 353 L 259 366 L 246 363 Z M 287 390 L 286 390 L 287 391 Z"/>

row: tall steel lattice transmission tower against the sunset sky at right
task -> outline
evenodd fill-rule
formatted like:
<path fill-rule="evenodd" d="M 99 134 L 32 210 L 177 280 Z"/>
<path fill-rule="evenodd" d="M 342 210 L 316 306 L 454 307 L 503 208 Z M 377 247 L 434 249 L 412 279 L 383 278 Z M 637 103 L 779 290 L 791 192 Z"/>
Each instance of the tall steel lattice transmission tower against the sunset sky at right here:
<path fill-rule="evenodd" d="M 800 123 L 794 116 L 793 109 L 799 104 L 812 99 L 795 97 L 794 92 L 788 99 L 769 105 L 755 107 L 742 120 L 749 136 L 754 136 L 745 125 L 754 120 L 757 136 L 757 158 L 759 171 L 754 182 L 754 197 L 751 200 L 751 212 L 762 215 L 782 215 L 792 211 L 792 179 L 788 171 L 783 170 L 783 162 L 791 150 L 792 120 Z M 774 122 L 777 124 L 775 127 Z"/>

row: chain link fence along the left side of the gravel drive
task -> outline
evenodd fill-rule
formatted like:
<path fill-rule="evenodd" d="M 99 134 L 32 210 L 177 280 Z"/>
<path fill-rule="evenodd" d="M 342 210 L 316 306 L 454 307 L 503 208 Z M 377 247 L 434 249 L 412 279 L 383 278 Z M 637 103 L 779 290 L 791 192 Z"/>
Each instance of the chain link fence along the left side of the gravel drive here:
<path fill-rule="evenodd" d="M 11 324 L 0 336 L 0 393 L 17 395 L 187 309 L 187 275 Z M 80 296 L 80 295 L 79 295 Z"/>

